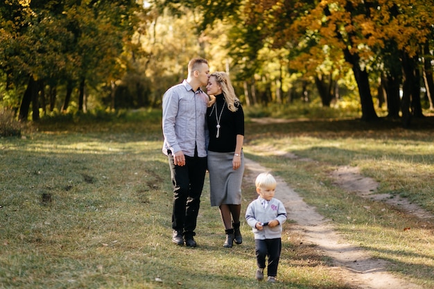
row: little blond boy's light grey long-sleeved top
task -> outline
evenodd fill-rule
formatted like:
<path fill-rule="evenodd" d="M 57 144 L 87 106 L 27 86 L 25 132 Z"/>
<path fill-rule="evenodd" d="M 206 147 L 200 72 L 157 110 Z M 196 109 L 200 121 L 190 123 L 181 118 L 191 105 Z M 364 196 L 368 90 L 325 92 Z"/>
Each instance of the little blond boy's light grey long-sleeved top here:
<path fill-rule="evenodd" d="M 255 239 L 265 240 L 281 238 L 281 225 L 286 221 L 286 209 L 284 204 L 275 198 L 272 198 L 268 202 L 266 209 L 264 209 L 261 204 L 261 198 L 258 197 L 249 204 L 245 211 L 245 220 L 247 220 L 250 227 L 253 228 L 252 231 Z M 261 231 L 255 227 L 257 222 L 269 222 L 271 220 L 278 220 L 279 225 L 273 228 L 263 226 Z"/>

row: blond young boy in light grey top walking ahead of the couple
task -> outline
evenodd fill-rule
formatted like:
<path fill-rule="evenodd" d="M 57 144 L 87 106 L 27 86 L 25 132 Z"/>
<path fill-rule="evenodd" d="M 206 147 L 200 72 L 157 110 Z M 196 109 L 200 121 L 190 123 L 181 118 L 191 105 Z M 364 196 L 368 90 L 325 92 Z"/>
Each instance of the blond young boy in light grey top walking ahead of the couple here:
<path fill-rule="evenodd" d="M 261 173 L 255 181 L 259 197 L 251 202 L 245 211 L 247 220 L 254 233 L 254 247 L 257 256 L 256 279 L 263 279 L 268 256 L 268 282 L 275 282 L 277 265 L 281 252 L 282 224 L 286 221 L 284 204 L 273 198 L 276 180 L 270 173 Z"/>

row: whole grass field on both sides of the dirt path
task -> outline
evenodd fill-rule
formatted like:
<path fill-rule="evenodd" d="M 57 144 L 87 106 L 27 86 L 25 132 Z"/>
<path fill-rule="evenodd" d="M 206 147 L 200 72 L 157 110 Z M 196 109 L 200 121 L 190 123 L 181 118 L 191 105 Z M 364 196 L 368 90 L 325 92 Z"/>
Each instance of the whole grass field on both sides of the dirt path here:
<path fill-rule="evenodd" d="M 434 130 L 395 123 L 246 124 L 245 155 L 279 175 L 350 243 L 390 261 L 391 272 L 434 288 L 433 223 L 335 186 L 330 172 L 358 166 L 379 192 L 434 213 Z M 0 139 L 0 288 L 269 288 L 254 280 L 254 242 L 223 248 L 206 183 L 199 246 L 171 243 L 172 193 L 159 112 L 40 123 Z M 267 148 L 264 150 L 264 148 Z M 274 154 L 293 152 L 313 161 Z M 256 198 L 243 184 L 243 211 Z M 369 211 L 365 209 L 369 207 Z M 285 238 L 273 288 L 351 288 L 314 246 Z M 404 231 L 403 228 L 410 227 Z"/>

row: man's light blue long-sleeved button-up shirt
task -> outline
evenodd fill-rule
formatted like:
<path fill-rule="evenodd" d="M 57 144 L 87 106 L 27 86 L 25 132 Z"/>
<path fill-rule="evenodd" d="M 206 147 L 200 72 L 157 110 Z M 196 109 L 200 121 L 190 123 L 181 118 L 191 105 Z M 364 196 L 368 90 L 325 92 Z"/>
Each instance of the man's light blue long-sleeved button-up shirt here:
<path fill-rule="evenodd" d="M 163 153 L 182 150 L 184 155 L 207 156 L 208 132 L 205 123 L 209 97 L 202 89 L 193 91 L 189 82 L 169 88 L 163 96 Z"/>

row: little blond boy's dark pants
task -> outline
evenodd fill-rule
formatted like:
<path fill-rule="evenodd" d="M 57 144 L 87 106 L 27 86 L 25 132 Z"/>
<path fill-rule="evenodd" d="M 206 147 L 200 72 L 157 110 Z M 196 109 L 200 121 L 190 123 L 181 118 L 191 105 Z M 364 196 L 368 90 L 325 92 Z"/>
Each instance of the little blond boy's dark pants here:
<path fill-rule="evenodd" d="M 256 249 L 258 268 L 266 268 L 266 256 L 268 256 L 267 275 L 276 277 L 281 252 L 281 238 L 254 239 L 254 247 Z"/>

